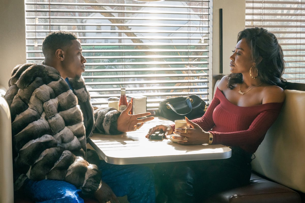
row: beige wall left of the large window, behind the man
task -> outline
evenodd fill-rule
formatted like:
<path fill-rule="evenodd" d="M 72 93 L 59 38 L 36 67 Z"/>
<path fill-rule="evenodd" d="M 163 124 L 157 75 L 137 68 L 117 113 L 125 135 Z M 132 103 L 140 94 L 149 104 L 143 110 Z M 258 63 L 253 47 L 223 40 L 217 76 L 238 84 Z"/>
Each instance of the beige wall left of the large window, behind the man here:
<path fill-rule="evenodd" d="M 13 68 L 26 62 L 24 0 L 0 0 L 0 86 L 8 88 Z"/>

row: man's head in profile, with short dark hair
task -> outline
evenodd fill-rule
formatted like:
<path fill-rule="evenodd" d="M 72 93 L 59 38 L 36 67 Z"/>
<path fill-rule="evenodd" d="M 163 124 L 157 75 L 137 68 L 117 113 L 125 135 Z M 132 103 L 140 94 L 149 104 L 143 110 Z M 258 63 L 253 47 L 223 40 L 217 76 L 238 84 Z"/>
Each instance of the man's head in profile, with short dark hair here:
<path fill-rule="evenodd" d="M 78 78 L 84 72 L 86 59 L 74 33 L 56 31 L 48 34 L 42 43 L 42 52 L 44 64 L 56 68 L 63 78 Z"/>

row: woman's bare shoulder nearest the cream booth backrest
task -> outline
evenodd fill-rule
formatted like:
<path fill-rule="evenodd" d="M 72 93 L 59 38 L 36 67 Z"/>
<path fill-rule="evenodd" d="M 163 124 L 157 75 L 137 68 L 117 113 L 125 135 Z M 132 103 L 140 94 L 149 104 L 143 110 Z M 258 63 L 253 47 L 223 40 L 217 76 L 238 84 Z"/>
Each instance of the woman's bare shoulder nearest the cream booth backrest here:
<path fill-rule="evenodd" d="M 265 86 L 263 90 L 263 103 L 282 103 L 285 101 L 285 92 L 279 86 Z"/>

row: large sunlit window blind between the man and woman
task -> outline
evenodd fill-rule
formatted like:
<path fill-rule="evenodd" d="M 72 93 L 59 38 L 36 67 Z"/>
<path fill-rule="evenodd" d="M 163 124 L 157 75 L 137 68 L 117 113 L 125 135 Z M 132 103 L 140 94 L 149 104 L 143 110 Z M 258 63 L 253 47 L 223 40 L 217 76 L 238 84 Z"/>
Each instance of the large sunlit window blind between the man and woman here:
<path fill-rule="evenodd" d="M 107 98 L 147 96 L 147 109 L 173 96 L 207 98 L 208 0 L 26 0 L 27 61 L 39 63 L 45 36 L 77 34 L 87 59 L 83 73 L 93 105 Z M 35 46 L 37 42 L 37 46 Z"/>

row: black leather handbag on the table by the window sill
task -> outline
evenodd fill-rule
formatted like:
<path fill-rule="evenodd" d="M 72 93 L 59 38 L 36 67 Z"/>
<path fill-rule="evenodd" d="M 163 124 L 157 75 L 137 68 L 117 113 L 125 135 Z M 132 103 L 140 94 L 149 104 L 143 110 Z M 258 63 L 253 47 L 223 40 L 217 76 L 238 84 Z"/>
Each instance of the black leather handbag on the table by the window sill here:
<path fill-rule="evenodd" d="M 160 116 L 170 121 L 185 119 L 185 116 L 192 120 L 202 117 L 205 112 L 206 102 L 195 94 L 169 98 L 159 103 Z"/>

